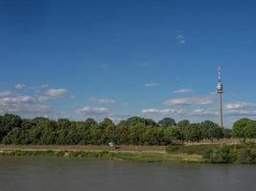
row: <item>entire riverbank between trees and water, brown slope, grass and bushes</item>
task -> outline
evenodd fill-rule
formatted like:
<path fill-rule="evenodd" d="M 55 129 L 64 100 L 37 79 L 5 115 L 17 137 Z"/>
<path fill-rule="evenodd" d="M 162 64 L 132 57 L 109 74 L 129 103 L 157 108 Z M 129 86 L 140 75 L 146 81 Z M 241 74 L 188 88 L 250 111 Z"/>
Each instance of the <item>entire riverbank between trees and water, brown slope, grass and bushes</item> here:
<path fill-rule="evenodd" d="M 109 147 L 105 145 L 0 145 L 0 157 L 111 159 L 146 162 L 256 163 L 256 144 Z"/>

